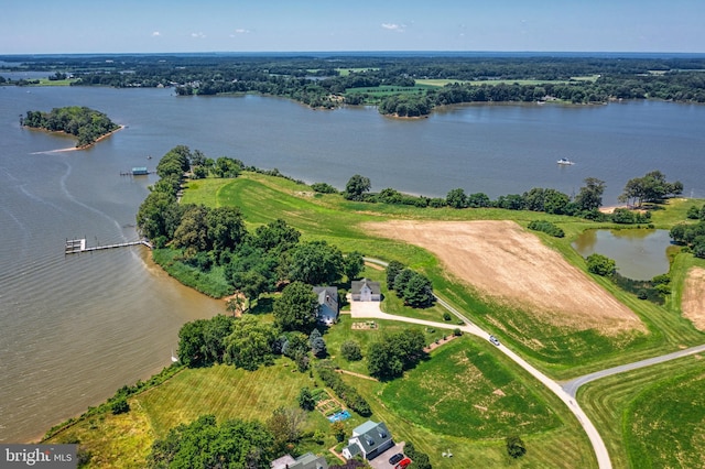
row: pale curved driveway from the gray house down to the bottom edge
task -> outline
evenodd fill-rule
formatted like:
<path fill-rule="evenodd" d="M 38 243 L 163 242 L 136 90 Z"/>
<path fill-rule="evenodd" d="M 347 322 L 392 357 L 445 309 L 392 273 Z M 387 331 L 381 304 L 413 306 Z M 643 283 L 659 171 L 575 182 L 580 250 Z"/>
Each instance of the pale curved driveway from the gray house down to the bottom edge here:
<path fill-rule="evenodd" d="M 379 265 L 383 265 L 383 266 L 388 265 L 387 262 L 381 261 L 379 259 L 365 258 L 365 260 Z M 475 325 L 467 317 L 465 317 L 465 315 L 463 315 L 459 310 L 451 306 L 446 301 L 438 298 L 437 296 L 436 296 L 436 301 L 441 306 L 443 306 L 448 312 L 453 313 L 459 319 L 463 319 L 465 321 L 465 326 L 462 326 L 460 330 L 481 337 L 484 339 L 487 339 L 489 337 L 489 332 L 482 330 L 479 326 Z M 350 315 L 352 317 L 375 317 L 379 319 L 393 319 L 393 320 L 401 320 L 405 323 L 414 323 L 414 324 L 421 324 L 425 326 L 433 326 L 433 327 L 444 328 L 444 329 L 455 329 L 457 327 L 455 325 L 449 325 L 444 323 L 434 323 L 430 320 L 415 319 L 411 317 L 397 316 L 397 315 L 382 313 L 381 310 L 379 310 L 379 307 L 377 308 L 366 307 L 361 312 L 355 312 L 354 306 L 357 306 L 357 305 L 351 302 Z M 360 316 L 359 314 L 364 314 L 366 316 Z M 371 316 L 367 316 L 367 315 L 371 315 Z M 593 445 L 593 450 L 595 451 L 595 457 L 597 458 L 598 467 L 600 469 L 611 469 L 612 463 L 609 459 L 609 454 L 607 452 L 607 447 L 605 446 L 605 441 L 603 441 L 603 438 L 599 436 L 597 428 L 595 427 L 595 425 L 593 425 L 593 422 L 590 422 L 590 419 L 587 417 L 585 412 L 583 412 L 581 406 L 575 401 L 574 396 L 568 394 L 563 388 L 561 388 L 561 385 L 557 382 L 553 381 L 551 378 L 546 377 L 541 371 L 536 370 L 523 358 L 519 357 L 517 353 L 514 353 L 503 345 L 500 345 L 497 348 L 501 352 L 503 352 L 507 357 L 509 357 L 511 360 L 513 360 L 517 364 L 519 364 L 521 368 L 523 368 L 529 373 L 531 373 L 535 379 L 541 381 L 546 388 L 549 388 L 549 390 L 551 390 L 555 395 L 557 395 L 558 399 L 565 403 L 565 405 L 567 405 L 567 407 L 577 417 L 578 422 L 583 426 L 583 429 L 587 434 L 587 437 L 589 438 L 590 444 Z"/>

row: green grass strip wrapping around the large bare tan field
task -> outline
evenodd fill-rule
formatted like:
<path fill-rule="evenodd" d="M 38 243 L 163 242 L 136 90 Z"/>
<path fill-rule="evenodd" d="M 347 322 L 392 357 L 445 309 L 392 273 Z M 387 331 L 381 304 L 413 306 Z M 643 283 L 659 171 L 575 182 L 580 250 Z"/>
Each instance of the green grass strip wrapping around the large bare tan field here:
<path fill-rule="evenodd" d="M 194 187 L 195 186 L 195 187 Z M 592 372 L 626 361 L 636 361 L 675 350 L 683 345 L 699 343 L 705 335 L 695 330 L 681 317 L 680 310 L 657 306 L 638 299 L 617 288 L 604 277 L 593 276 L 619 301 L 634 310 L 649 328 L 649 334 L 627 334 L 608 338 L 596 331 L 560 329 L 540 321 L 531 312 L 508 308 L 481 298 L 470 286 L 444 272 L 438 261 L 427 251 L 411 244 L 369 236 L 360 223 L 389 219 L 419 220 L 475 220 L 512 219 L 525 227 L 535 219 L 547 219 L 561 227 L 565 238 L 536 236 L 564 258 L 586 270 L 585 261 L 572 248 L 571 241 L 588 228 L 612 228 L 612 223 L 595 223 L 565 216 L 550 216 L 532 211 L 500 209 L 453 208 L 420 209 L 410 206 L 366 204 L 343 199 L 339 195 L 314 194 L 308 186 L 292 181 L 243 173 L 237 179 L 200 179 L 189 184 L 184 203 L 202 203 L 208 206 L 234 205 L 242 209 L 251 227 L 283 218 L 303 232 L 304 239 L 325 239 L 344 251 L 358 250 L 365 255 L 383 260 L 399 260 L 423 271 L 433 282 L 437 294 L 463 310 L 486 329 L 497 332 L 502 341 L 524 355 L 532 364 L 558 379 Z M 668 215 L 674 210 L 676 215 Z M 654 221 L 668 225 L 687 210 L 677 200 L 657 210 Z M 330 220 L 335 219 L 335 222 Z M 679 265 L 674 264 L 674 277 Z M 677 286 L 675 287 L 677 290 Z M 392 295 L 384 310 L 424 319 L 438 320 L 442 309 L 412 310 L 399 305 Z"/>

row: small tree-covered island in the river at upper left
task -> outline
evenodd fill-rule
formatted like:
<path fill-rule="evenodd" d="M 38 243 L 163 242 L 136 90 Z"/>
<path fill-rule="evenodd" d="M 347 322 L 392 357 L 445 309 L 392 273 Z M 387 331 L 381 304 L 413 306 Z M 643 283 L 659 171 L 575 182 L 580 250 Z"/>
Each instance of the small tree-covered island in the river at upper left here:
<path fill-rule="evenodd" d="M 78 149 L 89 146 L 120 129 L 105 113 L 79 106 L 54 108 L 51 112 L 26 111 L 26 117 L 20 118 L 20 124 L 75 135 L 78 138 Z"/>

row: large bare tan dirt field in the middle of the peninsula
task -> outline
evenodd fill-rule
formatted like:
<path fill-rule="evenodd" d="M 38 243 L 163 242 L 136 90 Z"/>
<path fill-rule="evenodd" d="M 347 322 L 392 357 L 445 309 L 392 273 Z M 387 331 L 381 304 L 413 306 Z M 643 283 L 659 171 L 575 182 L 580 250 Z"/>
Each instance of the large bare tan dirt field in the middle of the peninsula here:
<path fill-rule="evenodd" d="M 365 229 L 431 251 L 482 294 L 547 324 L 606 335 L 646 330 L 631 309 L 513 221 L 389 221 Z"/>

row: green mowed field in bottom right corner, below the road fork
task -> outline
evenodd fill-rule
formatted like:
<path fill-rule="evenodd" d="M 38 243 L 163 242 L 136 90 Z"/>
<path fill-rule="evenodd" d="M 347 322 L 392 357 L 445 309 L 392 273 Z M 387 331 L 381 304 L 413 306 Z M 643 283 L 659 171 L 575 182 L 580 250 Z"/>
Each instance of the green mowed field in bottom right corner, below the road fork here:
<path fill-rule="evenodd" d="M 616 469 L 704 467 L 703 380 L 703 357 L 685 357 L 588 383 L 578 401 Z"/>

